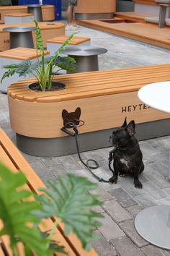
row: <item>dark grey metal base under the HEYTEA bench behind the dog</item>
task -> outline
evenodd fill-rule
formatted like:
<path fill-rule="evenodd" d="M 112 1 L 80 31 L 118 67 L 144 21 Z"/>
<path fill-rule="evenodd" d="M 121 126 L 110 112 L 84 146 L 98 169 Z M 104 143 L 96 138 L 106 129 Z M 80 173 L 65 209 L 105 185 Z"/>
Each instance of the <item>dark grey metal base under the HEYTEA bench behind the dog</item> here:
<path fill-rule="evenodd" d="M 79 148 L 81 152 L 99 148 L 111 147 L 108 142 L 112 129 L 87 132 L 78 135 Z M 170 135 L 170 119 L 151 121 L 136 125 L 136 137 L 138 140 L 148 140 L 154 137 Z M 76 153 L 74 137 L 58 137 L 41 139 L 26 137 L 17 134 L 17 147 L 28 155 L 36 156 L 61 156 Z"/>

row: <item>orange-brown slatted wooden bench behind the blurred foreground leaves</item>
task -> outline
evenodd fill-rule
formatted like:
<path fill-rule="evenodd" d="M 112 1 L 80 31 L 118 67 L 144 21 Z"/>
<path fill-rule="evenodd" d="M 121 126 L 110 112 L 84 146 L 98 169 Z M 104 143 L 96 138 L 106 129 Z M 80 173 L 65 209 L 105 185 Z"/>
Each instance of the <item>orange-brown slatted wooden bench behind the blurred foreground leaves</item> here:
<path fill-rule="evenodd" d="M 2 161 L 6 166 L 8 166 L 14 173 L 22 171 L 25 176 L 27 176 L 27 185 L 24 186 L 24 189 L 31 190 L 36 194 L 40 195 L 40 191 L 38 191 L 39 187 L 45 188 L 45 184 L 42 180 L 37 176 L 35 171 L 30 167 L 29 163 L 24 159 L 24 157 L 19 153 L 19 150 L 14 146 L 9 137 L 4 133 L 2 129 L 0 129 L 0 161 Z M 32 200 L 32 198 L 30 199 Z M 43 225 L 40 225 L 39 228 L 41 231 L 46 231 L 51 229 L 53 226 L 52 219 L 48 219 L 44 221 Z M 2 223 L 0 222 L 0 229 L 2 227 Z M 76 238 L 73 234 L 70 234 L 66 239 L 63 235 L 63 223 L 59 223 L 58 229 L 55 229 L 55 234 L 53 235 L 53 239 L 58 242 L 58 244 L 63 245 L 65 247 L 68 255 L 71 256 L 97 256 L 97 253 L 94 249 L 91 249 L 90 252 L 85 252 L 82 249 L 79 239 Z M 9 248 L 9 238 L 8 236 L 1 236 L 0 241 L 4 244 L 6 255 L 12 256 L 11 249 Z M 21 255 L 24 255 L 23 248 L 19 245 L 19 252 Z M 0 255 L 4 256 L 4 252 L 0 246 Z M 55 255 L 62 256 L 61 253 L 55 253 Z"/>

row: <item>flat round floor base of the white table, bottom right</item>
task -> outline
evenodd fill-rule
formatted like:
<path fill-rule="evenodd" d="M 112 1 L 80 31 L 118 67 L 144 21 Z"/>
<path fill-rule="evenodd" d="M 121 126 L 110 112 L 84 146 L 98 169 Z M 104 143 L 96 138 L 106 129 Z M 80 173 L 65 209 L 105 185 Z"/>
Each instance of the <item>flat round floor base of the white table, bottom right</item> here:
<path fill-rule="evenodd" d="M 170 249 L 170 206 L 157 205 L 142 210 L 135 217 L 135 229 L 151 244 Z"/>

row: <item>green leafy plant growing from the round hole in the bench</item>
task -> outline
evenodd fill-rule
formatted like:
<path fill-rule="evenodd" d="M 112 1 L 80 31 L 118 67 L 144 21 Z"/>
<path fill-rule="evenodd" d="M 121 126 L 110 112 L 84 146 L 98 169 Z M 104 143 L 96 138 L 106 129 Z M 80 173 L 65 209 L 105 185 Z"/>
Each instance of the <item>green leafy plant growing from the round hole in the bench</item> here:
<path fill-rule="evenodd" d="M 61 48 L 59 48 L 57 51 L 55 51 L 54 56 L 50 56 L 48 58 L 45 58 L 45 51 L 43 48 L 43 40 L 42 35 L 40 32 L 40 27 L 35 21 L 35 41 L 36 41 L 36 51 L 40 50 L 41 53 L 41 59 L 39 59 L 37 54 L 37 62 L 32 63 L 30 59 L 27 59 L 26 61 L 22 61 L 19 64 L 10 64 L 3 66 L 5 69 L 8 69 L 6 72 L 4 72 L 3 76 L 1 77 L 1 82 L 9 76 L 12 76 L 13 74 L 17 73 L 19 74 L 19 77 L 26 77 L 27 74 L 32 74 L 37 78 L 37 82 L 40 85 L 40 90 L 44 91 L 45 89 L 51 90 L 53 77 L 55 74 L 57 74 L 58 71 L 61 69 L 67 70 L 69 72 L 74 72 L 76 67 L 76 61 L 68 56 L 60 56 L 64 48 L 68 45 L 68 42 L 73 38 L 72 35 L 68 36 L 68 38 L 65 40 L 65 42 L 61 45 Z M 57 71 L 54 72 L 55 67 L 59 67 Z M 56 69 L 55 69 L 56 70 Z"/>

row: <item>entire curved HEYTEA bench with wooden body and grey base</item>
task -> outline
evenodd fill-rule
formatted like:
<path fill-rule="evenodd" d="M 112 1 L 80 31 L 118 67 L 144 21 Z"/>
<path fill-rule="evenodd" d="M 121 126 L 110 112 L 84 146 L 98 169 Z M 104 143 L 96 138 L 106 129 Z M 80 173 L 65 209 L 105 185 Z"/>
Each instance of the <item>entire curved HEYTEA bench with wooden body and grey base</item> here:
<path fill-rule="evenodd" d="M 113 127 L 127 116 L 137 124 L 138 140 L 169 135 L 170 115 L 141 103 L 138 90 L 148 83 L 169 80 L 170 65 L 111 69 L 56 76 L 65 90 L 34 92 L 27 85 L 33 79 L 9 86 L 9 116 L 17 133 L 17 145 L 24 153 L 60 156 L 76 153 L 74 137 L 61 131 L 62 111 L 81 108 L 80 150 L 109 147 Z"/>

